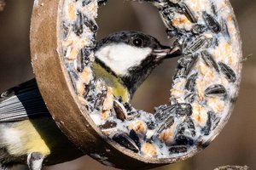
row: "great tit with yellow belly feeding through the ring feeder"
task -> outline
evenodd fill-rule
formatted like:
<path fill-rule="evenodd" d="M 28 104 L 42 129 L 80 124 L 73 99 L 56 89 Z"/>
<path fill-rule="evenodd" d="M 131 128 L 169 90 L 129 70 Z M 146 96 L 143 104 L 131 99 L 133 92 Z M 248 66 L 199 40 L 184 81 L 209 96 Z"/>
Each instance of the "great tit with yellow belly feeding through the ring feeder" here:
<path fill-rule="evenodd" d="M 93 71 L 113 94 L 129 102 L 163 59 L 179 55 L 149 35 L 120 31 L 97 42 Z M 83 156 L 49 115 L 35 79 L 0 97 L 0 169 L 27 164 L 31 170 Z"/>

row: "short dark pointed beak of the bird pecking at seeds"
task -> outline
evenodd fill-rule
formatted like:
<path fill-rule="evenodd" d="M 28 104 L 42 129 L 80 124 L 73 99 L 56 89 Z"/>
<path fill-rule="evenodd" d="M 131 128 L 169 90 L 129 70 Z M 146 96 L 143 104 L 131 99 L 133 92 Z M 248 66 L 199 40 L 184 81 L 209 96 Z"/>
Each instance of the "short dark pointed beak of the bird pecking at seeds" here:
<path fill-rule="evenodd" d="M 162 46 L 160 49 L 154 49 L 152 54 L 154 54 L 157 59 L 171 59 L 180 56 L 182 53 L 179 47 Z"/>

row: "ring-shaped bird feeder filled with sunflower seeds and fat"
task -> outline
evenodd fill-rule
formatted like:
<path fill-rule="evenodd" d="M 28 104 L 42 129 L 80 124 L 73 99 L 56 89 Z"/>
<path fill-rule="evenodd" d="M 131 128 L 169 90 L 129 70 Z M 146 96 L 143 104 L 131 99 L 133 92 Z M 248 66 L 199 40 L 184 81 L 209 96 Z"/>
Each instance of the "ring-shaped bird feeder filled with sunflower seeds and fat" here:
<path fill-rule="evenodd" d="M 147 1 L 183 56 L 170 101 L 137 111 L 96 80 L 96 0 L 37 0 L 32 66 L 49 112 L 84 153 L 125 169 L 157 167 L 194 156 L 223 129 L 241 82 L 241 39 L 228 0 Z M 103 28 L 102 28 L 103 29 Z"/>

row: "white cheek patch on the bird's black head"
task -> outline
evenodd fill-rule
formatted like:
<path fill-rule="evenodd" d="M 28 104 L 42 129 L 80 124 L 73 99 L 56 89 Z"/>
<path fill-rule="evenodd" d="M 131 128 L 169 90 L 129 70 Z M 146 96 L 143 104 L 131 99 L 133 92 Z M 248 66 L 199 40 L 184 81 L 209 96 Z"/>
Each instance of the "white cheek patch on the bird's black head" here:
<path fill-rule="evenodd" d="M 125 76 L 129 68 L 140 65 L 151 52 L 151 48 L 136 48 L 125 43 L 113 43 L 99 49 L 96 58 L 102 60 L 118 76 Z"/>

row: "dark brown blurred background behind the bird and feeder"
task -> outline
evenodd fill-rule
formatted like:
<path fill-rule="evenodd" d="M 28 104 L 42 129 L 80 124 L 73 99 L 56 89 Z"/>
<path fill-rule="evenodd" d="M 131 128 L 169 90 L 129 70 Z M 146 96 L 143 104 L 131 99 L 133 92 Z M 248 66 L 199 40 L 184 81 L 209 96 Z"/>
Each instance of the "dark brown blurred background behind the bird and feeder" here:
<path fill-rule="evenodd" d="M 29 52 L 29 25 L 32 0 L 6 0 L 0 12 L 0 92 L 33 77 Z M 248 165 L 256 169 L 256 1 L 231 0 L 238 20 L 243 56 L 252 55 L 243 63 L 241 91 L 230 122 L 207 149 L 187 161 L 159 167 L 158 170 L 212 170 L 222 165 Z M 109 0 L 99 9 L 98 39 L 120 30 L 137 30 L 170 43 L 156 8 L 148 3 Z M 168 101 L 169 89 L 177 60 L 166 61 L 137 91 L 133 104 L 152 111 Z M 17 167 L 22 169 L 24 167 Z M 45 170 L 110 170 L 88 156 Z"/>

